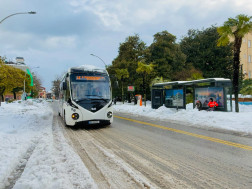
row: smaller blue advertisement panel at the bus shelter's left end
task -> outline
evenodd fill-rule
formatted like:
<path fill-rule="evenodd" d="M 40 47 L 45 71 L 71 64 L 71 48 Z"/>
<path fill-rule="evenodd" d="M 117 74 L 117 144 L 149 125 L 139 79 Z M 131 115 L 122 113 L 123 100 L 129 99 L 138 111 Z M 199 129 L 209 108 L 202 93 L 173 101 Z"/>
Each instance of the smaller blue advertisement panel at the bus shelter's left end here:
<path fill-rule="evenodd" d="M 183 107 L 183 89 L 166 89 L 165 106 L 166 107 Z"/>

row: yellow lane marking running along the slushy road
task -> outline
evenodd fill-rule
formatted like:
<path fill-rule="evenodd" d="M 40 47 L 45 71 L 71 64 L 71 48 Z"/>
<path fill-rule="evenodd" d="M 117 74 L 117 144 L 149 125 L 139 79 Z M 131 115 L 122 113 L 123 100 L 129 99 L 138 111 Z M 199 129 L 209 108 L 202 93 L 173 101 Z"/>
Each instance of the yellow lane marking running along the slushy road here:
<path fill-rule="evenodd" d="M 247 145 L 244 145 L 244 144 L 229 142 L 229 141 L 221 140 L 221 139 L 218 139 L 218 138 L 213 138 L 213 137 L 208 137 L 208 136 L 199 135 L 199 134 L 195 134 L 195 133 L 190 133 L 190 132 L 183 131 L 183 130 L 173 129 L 173 128 L 170 128 L 170 127 L 165 127 L 165 126 L 162 126 L 162 125 L 156 125 L 156 124 L 153 124 L 153 123 L 147 123 L 147 122 L 138 121 L 138 120 L 134 120 L 134 119 L 129 119 L 129 118 L 125 118 L 125 117 L 120 117 L 120 116 L 115 116 L 115 115 L 114 115 L 114 117 L 119 118 L 119 119 L 124 119 L 124 120 L 127 120 L 127 121 L 132 121 L 132 122 L 144 124 L 144 125 L 149 125 L 149 126 L 152 126 L 152 127 L 156 127 L 156 128 L 160 128 L 160 129 L 164 129 L 164 130 L 168 130 L 168 131 L 173 131 L 173 132 L 184 134 L 184 135 L 193 136 L 193 137 L 196 137 L 196 138 L 201 138 L 201 139 L 204 139 L 204 140 L 209 140 L 209 141 L 212 141 L 212 142 L 225 144 L 225 145 L 228 145 L 228 146 L 242 148 L 242 149 L 245 149 L 245 150 L 252 150 L 252 146 L 247 146 Z"/>

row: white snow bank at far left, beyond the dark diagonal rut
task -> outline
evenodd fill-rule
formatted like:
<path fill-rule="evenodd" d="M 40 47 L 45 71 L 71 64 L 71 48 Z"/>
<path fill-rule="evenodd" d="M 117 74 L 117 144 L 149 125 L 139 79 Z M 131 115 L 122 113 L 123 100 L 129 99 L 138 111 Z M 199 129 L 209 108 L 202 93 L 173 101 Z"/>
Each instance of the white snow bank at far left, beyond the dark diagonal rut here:
<path fill-rule="evenodd" d="M 37 111 L 36 111 L 37 110 Z M 0 107 L 0 188 L 7 177 L 25 162 L 29 149 L 36 146 L 40 132 L 52 122 L 52 112 L 44 104 L 32 101 L 24 103 L 2 103 Z M 39 119 L 40 117 L 40 119 Z"/>

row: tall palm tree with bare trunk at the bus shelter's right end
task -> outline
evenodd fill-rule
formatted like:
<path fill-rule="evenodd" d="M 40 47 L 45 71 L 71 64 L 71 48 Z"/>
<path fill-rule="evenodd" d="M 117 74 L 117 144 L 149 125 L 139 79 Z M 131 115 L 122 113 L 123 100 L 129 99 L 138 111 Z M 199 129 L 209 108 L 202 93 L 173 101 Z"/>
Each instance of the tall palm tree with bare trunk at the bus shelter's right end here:
<path fill-rule="evenodd" d="M 234 39 L 233 51 L 233 89 L 235 94 L 235 111 L 239 112 L 238 93 L 239 93 L 239 69 L 240 69 L 240 49 L 242 38 L 252 31 L 252 17 L 247 15 L 237 15 L 235 18 L 229 18 L 224 25 L 217 29 L 220 38 L 218 46 L 224 46 Z"/>

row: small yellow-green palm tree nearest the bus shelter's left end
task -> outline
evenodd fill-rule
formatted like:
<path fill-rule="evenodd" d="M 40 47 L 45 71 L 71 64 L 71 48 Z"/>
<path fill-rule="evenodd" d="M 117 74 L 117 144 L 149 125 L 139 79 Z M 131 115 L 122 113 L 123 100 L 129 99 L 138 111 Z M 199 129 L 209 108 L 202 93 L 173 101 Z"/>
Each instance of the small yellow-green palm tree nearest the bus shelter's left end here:
<path fill-rule="evenodd" d="M 144 91 L 144 105 L 146 106 L 146 80 L 147 76 L 153 71 L 153 64 L 144 64 L 142 62 L 138 62 L 138 67 L 136 72 L 141 74 L 143 77 L 143 91 Z"/>

